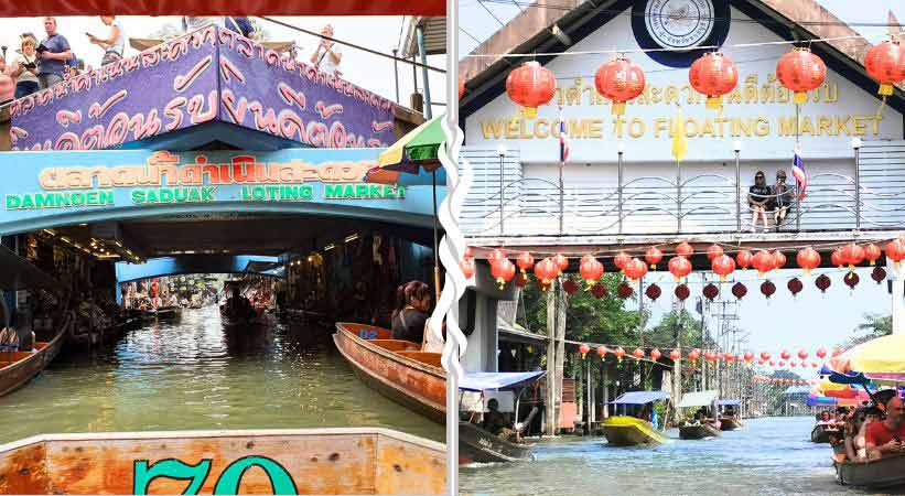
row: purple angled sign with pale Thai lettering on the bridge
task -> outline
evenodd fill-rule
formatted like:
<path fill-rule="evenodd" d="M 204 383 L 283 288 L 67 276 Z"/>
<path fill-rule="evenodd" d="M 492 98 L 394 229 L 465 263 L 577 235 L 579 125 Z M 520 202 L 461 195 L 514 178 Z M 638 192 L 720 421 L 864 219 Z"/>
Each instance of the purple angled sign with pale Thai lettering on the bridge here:
<path fill-rule="evenodd" d="M 10 138 L 98 150 L 220 120 L 310 147 L 386 147 L 394 105 L 212 26 L 14 101 Z"/>

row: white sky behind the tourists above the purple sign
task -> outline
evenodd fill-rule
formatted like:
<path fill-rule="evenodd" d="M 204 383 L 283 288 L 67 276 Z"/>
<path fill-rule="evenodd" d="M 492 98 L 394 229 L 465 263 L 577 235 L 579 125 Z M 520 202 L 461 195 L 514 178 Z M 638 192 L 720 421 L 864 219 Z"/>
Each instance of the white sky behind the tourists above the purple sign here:
<path fill-rule="evenodd" d="M 304 28 L 309 31 L 320 32 L 324 24 L 331 23 L 334 28 L 334 36 L 337 40 L 348 41 L 355 44 L 367 46 L 371 50 L 392 54 L 392 48 L 399 45 L 400 31 L 403 18 L 401 17 L 340 17 L 340 18 L 316 18 L 316 17 L 283 17 L 277 18 L 285 23 Z M 149 37 L 151 33 L 160 31 L 165 24 L 181 26 L 177 17 L 122 17 L 119 18 L 126 35 L 130 37 Z M 305 61 L 317 47 L 319 39 L 288 29 L 272 22 L 255 19 L 255 22 L 267 31 L 271 41 L 295 41 L 301 46 L 300 57 Z M 103 56 L 101 50 L 88 42 L 85 33 L 96 36 L 106 35 L 108 28 L 96 17 L 68 17 L 57 19 L 57 31 L 69 42 L 76 55 L 85 60 L 86 64 L 97 66 Z M 42 18 L 15 18 L 0 19 L 0 45 L 7 46 L 7 57 L 15 56 L 19 47 L 19 34 L 32 32 L 39 40 L 46 33 Z M 137 52 L 128 46 L 126 54 Z M 428 57 L 428 64 L 441 69 L 445 69 L 445 55 L 433 55 Z M 352 83 L 369 89 L 389 99 L 396 99 L 396 86 L 394 82 L 392 61 L 379 57 L 352 47 L 343 47 L 343 60 L 340 65 L 343 77 Z M 422 74 L 418 71 L 418 85 L 422 86 Z M 445 76 L 440 73 L 430 72 L 430 87 L 433 100 L 444 104 L 446 101 L 444 82 Z M 405 107 L 409 106 L 409 95 L 412 89 L 412 69 L 408 64 L 399 63 L 399 95 Z M 434 115 L 443 112 L 443 106 L 433 107 Z"/>

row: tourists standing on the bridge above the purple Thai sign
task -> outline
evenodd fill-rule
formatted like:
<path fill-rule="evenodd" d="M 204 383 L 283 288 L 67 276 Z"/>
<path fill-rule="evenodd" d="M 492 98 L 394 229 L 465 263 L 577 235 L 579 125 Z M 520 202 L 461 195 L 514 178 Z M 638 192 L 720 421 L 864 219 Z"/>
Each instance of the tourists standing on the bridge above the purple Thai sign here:
<path fill-rule="evenodd" d="M 0 105 L 23 98 L 40 89 L 62 83 L 80 72 L 91 71 L 73 51 L 69 41 L 57 31 L 56 18 L 44 18 L 44 33 L 41 41 L 32 32 L 19 35 L 15 55 L 7 58 L 6 47 L 0 54 Z M 88 42 L 100 51 L 100 65 L 121 60 L 126 53 L 127 34 L 116 15 L 101 15 L 105 26 L 103 34 L 85 32 Z M 254 37 L 255 26 L 248 18 L 234 17 L 183 17 L 183 32 L 191 32 L 209 24 Z M 321 42 L 312 52 L 310 62 L 319 69 L 340 76 L 343 52 L 333 41 L 333 26 L 326 24 L 321 30 Z M 294 58 L 294 52 L 292 57 Z"/>

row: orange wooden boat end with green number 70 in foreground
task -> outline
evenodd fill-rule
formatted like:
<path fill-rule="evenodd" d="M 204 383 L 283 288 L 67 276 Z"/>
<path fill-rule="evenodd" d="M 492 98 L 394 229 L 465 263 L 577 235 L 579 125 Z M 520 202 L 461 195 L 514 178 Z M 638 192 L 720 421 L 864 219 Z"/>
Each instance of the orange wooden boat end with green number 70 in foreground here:
<path fill-rule="evenodd" d="M 249 470 L 251 468 L 251 470 Z M 388 429 L 45 434 L 0 445 L 2 494 L 443 494 L 445 448 Z"/>

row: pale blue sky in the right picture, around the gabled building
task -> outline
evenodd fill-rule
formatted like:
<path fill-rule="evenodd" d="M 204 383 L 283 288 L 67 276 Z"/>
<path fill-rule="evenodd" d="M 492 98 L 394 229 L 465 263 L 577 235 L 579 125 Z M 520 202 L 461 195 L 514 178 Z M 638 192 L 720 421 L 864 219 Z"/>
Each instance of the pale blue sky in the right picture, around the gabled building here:
<path fill-rule="evenodd" d="M 905 22 L 903 0 L 818 1 L 849 23 L 885 23 L 890 10 L 896 14 L 899 22 Z M 513 0 L 461 0 L 460 12 L 463 21 L 460 22 L 459 31 L 459 56 L 470 53 L 481 41 L 496 32 L 502 23 L 517 15 L 526 2 L 518 0 L 518 3 L 522 7 Z M 885 26 L 854 29 L 872 43 L 882 41 L 887 32 Z M 794 257 L 790 256 L 789 260 L 794 266 Z M 737 325 L 747 333 L 747 347 L 752 351 L 777 353 L 783 348 L 797 351 L 804 347 L 809 348 L 812 354 L 820 346 L 831 349 L 854 335 L 853 331 L 864 321 L 865 313 L 888 314 L 891 311 L 892 303 L 886 284 L 874 283 L 870 278 L 870 269 L 859 270 L 861 283 L 854 291 L 850 291 L 842 283 L 842 272 L 831 274 L 832 285 L 826 294 L 821 294 L 815 288 L 814 278 L 802 279 L 805 290 L 796 299 L 791 298 L 786 282 L 794 276 L 800 276 L 800 271 L 782 272 L 774 280 L 777 290 L 771 300 L 766 300 L 759 293 L 762 281 L 756 274 L 748 271 L 740 276 L 750 282 L 746 282 L 748 294 L 739 305 Z M 665 296 L 650 306 L 653 316 L 649 325 L 655 325 L 664 313 L 671 310 L 671 299 L 667 296 L 671 296 L 675 284 L 668 282 L 668 273 L 664 276 L 664 280 L 667 281 L 661 288 Z M 691 290 L 692 295 L 699 295 L 701 284 L 692 285 Z M 722 292 L 728 299 L 734 300 L 729 287 Z M 645 303 L 647 304 L 647 301 Z"/>

